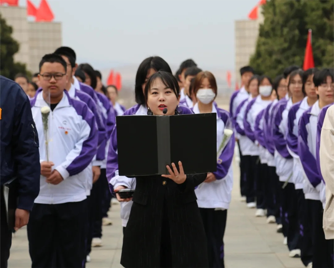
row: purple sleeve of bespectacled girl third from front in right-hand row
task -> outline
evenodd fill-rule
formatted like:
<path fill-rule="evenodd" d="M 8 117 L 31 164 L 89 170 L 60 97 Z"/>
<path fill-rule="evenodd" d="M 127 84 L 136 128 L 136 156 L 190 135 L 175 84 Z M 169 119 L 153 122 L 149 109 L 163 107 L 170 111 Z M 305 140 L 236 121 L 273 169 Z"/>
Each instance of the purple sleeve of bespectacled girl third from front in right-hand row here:
<path fill-rule="evenodd" d="M 276 111 L 273 115 L 273 140 L 275 144 L 276 150 L 282 155 L 284 158 L 291 159 L 292 156 L 290 155 L 287 142 L 284 138 L 284 134 L 280 130 L 280 124 L 282 122 L 282 113 L 285 109 L 286 103 L 280 103 L 278 107 L 276 107 Z"/>

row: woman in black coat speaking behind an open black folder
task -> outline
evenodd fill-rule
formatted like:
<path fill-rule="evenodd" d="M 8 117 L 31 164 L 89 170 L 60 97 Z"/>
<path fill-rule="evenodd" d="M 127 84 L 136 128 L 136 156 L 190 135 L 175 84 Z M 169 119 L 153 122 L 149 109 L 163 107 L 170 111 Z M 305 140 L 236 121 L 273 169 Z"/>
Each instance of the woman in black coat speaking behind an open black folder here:
<path fill-rule="evenodd" d="M 166 115 L 182 113 L 178 107 L 180 88 L 172 73 L 153 74 L 143 96 L 148 115 L 163 115 L 165 108 Z M 113 162 L 114 168 L 108 173 L 115 173 L 116 127 L 111 144 L 108 163 Z M 124 267 L 208 267 L 207 240 L 194 192 L 207 174 L 185 175 L 182 163 L 176 164 L 180 172 L 173 163 L 172 167 L 167 166 L 169 175 L 136 178 L 133 205 L 123 238 L 121 264 Z M 130 187 L 129 178 L 117 180 L 115 190 Z"/>

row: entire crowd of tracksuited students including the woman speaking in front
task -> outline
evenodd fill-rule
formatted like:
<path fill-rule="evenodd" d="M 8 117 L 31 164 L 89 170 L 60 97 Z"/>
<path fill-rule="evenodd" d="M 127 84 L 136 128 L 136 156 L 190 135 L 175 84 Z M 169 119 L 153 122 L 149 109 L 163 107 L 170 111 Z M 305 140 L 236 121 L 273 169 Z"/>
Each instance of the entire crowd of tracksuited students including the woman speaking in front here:
<path fill-rule="evenodd" d="M 124 267 L 224 267 L 235 146 L 247 207 L 277 223 L 289 256 L 308 267 L 333 267 L 333 226 L 322 228 L 333 203 L 319 158 L 322 123 L 327 109 L 333 112 L 333 70 L 291 66 L 274 82 L 249 66 L 240 74 L 244 86 L 233 93 L 229 112 L 215 102 L 213 74 L 191 59 L 175 75 L 161 57 L 144 59 L 135 78 L 137 104 L 128 110 L 117 102 L 117 88 L 105 87 L 91 65 L 78 65 L 69 47 L 45 55 L 32 81 L 18 74 L 40 155 L 40 180 L 29 184 L 38 188 L 27 226 L 32 267 L 84 267 L 91 247 L 102 246 L 102 225 L 112 224 L 112 193 L 121 203 Z M 167 115 L 216 113 L 216 172 L 186 176 L 179 163 L 162 177 L 119 175 L 116 116 L 162 115 L 162 108 Z M 133 199 L 120 198 L 125 188 L 136 189 Z"/>

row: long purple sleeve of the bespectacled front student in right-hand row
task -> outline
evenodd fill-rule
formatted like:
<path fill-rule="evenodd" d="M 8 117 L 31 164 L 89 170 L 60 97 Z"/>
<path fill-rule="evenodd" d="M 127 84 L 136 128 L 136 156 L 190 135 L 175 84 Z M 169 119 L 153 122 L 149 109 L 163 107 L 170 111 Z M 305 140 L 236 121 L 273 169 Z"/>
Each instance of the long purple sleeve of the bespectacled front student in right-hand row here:
<path fill-rule="evenodd" d="M 305 112 L 299 120 L 299 130 L 298 130 L 298 155 L 300 161 L 302 162 L 303 169 L 305 174 L 315 188 L 321 182 L 321 177 L 317 169 L 317 163 L 310 152 L 310 149 L 307 144 L 307 129 L 306 124 L 309 123 L 310 115 L 308 112 Z"/>

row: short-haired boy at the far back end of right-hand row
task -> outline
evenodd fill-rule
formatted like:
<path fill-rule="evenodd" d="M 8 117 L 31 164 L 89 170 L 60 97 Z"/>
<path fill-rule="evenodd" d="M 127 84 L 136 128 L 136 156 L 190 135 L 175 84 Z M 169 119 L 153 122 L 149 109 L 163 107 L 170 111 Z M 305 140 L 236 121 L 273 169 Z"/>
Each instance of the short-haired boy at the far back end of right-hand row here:
<path fill-rule="evenodd" d="M 239 90 L 233 92 L 230 100 L 230 105 L 229 105 L 229 112 L 231 115 L 231 118 L 233 120 L 233 125 L 235 126 L 235 119 L 237 117 L 237 108 L 240 105 L 240 103 L 243 100 L 248 99 L 249 97 L 249 89 L 248 89 L 248 84 L 249 80 L 252 78 L 254 75 L 254 69 L 251 66 L 244 66 L 240 68 L 240 75 L 241 75 L 241 85 L 243 85 Z M 241 200 L 246 201 L 246 161 L 244 159 L 244 156 L 242 155 L 242 151 L 240 150 L 240 144 L 239 144 L 239 137 L 240 135 L 238 134 L 237 131 L 234 131 L 235 133 L 235 138 L 238 144 L 238 149 L 239 149 L 239 155 L 240 155 L 240 194 L 241 194 Z"/>

